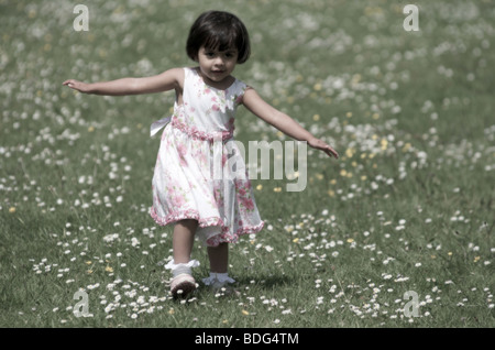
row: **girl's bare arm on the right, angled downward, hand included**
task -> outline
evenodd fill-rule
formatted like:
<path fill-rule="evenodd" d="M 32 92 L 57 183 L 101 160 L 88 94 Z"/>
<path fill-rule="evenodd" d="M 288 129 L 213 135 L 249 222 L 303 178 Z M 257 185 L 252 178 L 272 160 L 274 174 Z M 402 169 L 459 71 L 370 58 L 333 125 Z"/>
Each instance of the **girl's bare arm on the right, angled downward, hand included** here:
<path fill-rule="evenodd" d="M 249 88 L 244 92 L 243 105 L 255 116 L 275 127 L 286 135 L 297 140 L 306 141 L 309 146 L 323 151 L 329 156 L 339 157 L 339 153 L 326 142 L 315 138 L 309 131 L 304 129 L 289 116 L 280 112 L 276 108 L 265 102 L 253 88 Z"/>

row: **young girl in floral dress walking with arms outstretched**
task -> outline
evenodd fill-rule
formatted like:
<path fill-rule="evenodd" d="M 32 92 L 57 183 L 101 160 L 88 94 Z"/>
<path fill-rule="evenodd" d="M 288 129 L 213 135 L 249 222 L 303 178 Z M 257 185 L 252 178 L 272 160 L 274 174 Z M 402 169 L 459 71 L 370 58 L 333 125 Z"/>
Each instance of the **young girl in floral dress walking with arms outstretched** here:
<path fill-rule="evenodd" d="M 195 237 L 207 245 L 210 262 L 210 276 L 204 283 L 222 287 L 234 282 L 227 271 L 228 244 L 263 228 L 249 178 L 231 176 L 231 157 L 227 160 L 227 155 L 233 155 L 237 165 L 244 165 L 232 139 L 239 105 L 288 136 L 306 141 L 329 156 L 339 156 L 330 145 L 232 76 L 235 66 L 250 56 L 248 31 L 235 15 L 221 11 L 202 13 L 190 29 L 186 50 L 198 64 L 196 67 L 174 68 L 143 78 L 63 83 L 80 92 L 110 96 L 175 90 L 173 116 L 152 125 L 155 133 L 170 121 L 162 134 L 151 209 L 158 225 L 175 225 L 174 259 L 165 266 L 173 273 L 174 296 L 185 296 L 196 288 L 191 267 L 199 263 L 190 259 Z M 220 165 L 216 164 L 216 141 L 223 147 Z M 221 168 L 220 176 L 212 176 L 216 166 Z"/>

